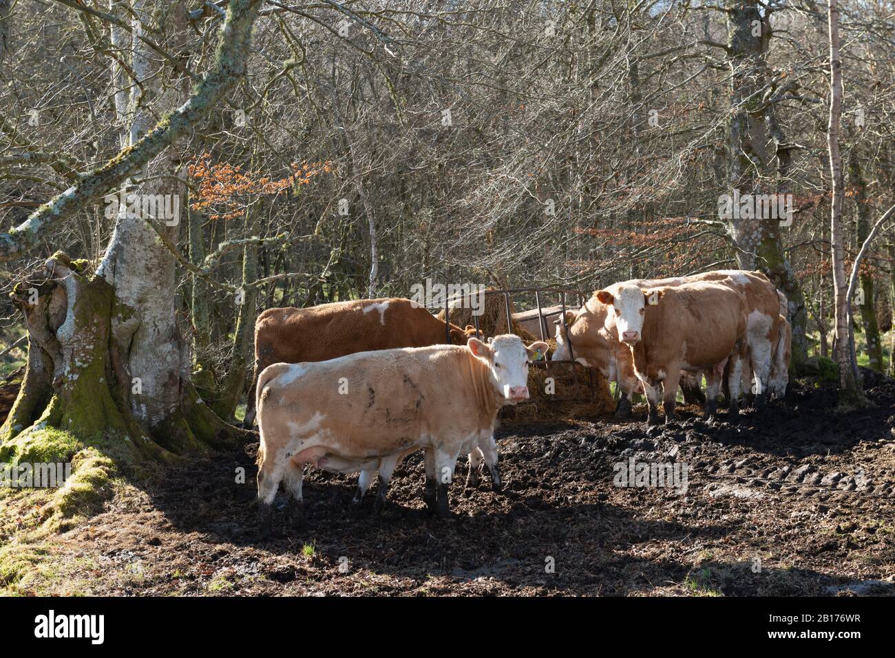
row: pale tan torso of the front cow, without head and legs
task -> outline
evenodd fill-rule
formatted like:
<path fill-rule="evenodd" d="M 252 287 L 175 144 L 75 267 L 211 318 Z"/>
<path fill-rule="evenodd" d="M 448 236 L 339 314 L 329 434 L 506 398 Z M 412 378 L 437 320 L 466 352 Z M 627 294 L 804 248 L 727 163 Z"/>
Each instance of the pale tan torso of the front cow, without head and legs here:
<path fill-rule="evenodd" d="M 263 441 L 298 440 L 303 449 L 326 445 L 345 459 L 364 459 L 420 447 L 432 436 L 465 437 L 496 416 L 496 407 L 482 409 L 484 380 L 473 381 L 481 367 L 469 350 L 450 345 L 277 366 L 259 391 Z"/>

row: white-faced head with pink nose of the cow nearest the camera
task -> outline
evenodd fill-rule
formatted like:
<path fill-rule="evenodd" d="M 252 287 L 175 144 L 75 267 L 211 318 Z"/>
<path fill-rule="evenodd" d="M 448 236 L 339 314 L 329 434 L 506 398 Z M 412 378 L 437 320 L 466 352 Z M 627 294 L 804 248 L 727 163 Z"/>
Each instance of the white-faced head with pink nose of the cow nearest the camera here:
<path fill-rule="evenodd" d="M 470 338 L 466 345 L 473 357 L 488 366 L 491 384 L 504 401 L 516 403 L 528 399 L 528 365 L 539 353 L 547 353 L 546 342 L 537 341 L 525 347 L 521 338 L 507 333 L 488 342 Z"/>

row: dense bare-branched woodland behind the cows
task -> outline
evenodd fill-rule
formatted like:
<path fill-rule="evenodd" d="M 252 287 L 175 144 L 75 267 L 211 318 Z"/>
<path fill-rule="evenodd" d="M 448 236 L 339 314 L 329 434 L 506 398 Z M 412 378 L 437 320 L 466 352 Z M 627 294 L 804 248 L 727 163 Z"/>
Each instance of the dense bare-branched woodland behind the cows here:
<path fill-rule="evenodd" d="M 231 4 L 258 13 L 236 62 L 216 50 L 226 2 L 0 0 L 0 232 L 139 146 L 217 64 L 244 66 L 131 179 L 182 195 L 179 225 L 120 221 L 94 195 L 0 261 L 0 352 L 25 332 L 14 286 L 61 250 L 85 277 L 114 271 L 141 316 L 118 333 L 113 308 L 106 367 L 175 373 L 143 393 L 156 412 L 113 391 L 144 428 L 184 383 L 233 420 L 260 309 L 406 296 L 427 277 L 589 292 L 757 268 L 788 296 L 793 367 L 831 354 L 824 5 Z M 840 34 L 848 267 L 895 198 L 895 4 L 842 3 Z M 793 194 L 791 226 L 720 220 L 733 189 Z M 890 374 L 893 298 L 890 231 L 854 306 L 859 359 Z M 24 359 L 21 342 L 0 367 Z"/>

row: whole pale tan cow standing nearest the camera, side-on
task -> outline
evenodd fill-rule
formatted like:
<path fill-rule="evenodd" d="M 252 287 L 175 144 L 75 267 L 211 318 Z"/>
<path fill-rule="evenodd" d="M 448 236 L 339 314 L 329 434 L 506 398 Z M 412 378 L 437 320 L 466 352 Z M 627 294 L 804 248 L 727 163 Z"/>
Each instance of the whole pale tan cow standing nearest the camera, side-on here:
<path fill-rule="evenodd" d="M 265 368 L 257 387 L 262 533 L 281 481 L 301 504 L 304 464 L 379 470 L 384 499 L 397 462 L 415 450 L 425 451 L 426 505 L 447 516 L 457 455 L 488 442 L 500 407 L 528 398 L 528 364 L 539 350 L 546 343 L 525 347 L 502 335 Z"/>

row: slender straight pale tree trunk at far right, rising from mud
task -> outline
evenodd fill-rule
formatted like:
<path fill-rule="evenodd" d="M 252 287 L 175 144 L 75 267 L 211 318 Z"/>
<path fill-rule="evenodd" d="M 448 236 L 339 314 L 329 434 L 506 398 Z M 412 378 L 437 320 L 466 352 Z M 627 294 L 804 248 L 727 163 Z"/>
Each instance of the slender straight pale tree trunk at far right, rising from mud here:
<path fill-rule="evenodd" d="M 845 278 L 845 252 L 842 231 L 842 157 L 839 148 L 842 116 L 842 64 L 840 62 L 839 7 L 837 0 L 828 0 L 830 11 L 830 122 L 827 139 L 830 149 L 832 202 L 830 242 L 832 249 L 833 299 L 835 299 L 836 362 L 840 367 L 840 406 L 848 408 L 863 400 L 857 361 L 854 356 L 855 335 L 851 325 L 848 283 Z"/>

